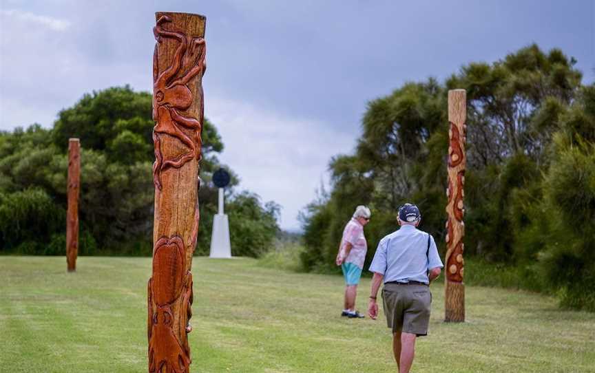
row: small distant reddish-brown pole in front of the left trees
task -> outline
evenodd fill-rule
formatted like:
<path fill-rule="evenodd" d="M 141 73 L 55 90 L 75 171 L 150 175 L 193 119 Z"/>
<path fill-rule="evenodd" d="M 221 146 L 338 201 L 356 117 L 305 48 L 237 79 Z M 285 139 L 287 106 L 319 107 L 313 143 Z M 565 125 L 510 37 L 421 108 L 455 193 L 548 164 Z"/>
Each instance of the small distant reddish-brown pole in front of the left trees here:
<path fill-rule="evenodd" d="M 66 263 L 68 272 L 76 270 L 79 255 L 79 184 L 81 179 L 81 143 L 68 140 L 68 211 L 66 213 Z"/>

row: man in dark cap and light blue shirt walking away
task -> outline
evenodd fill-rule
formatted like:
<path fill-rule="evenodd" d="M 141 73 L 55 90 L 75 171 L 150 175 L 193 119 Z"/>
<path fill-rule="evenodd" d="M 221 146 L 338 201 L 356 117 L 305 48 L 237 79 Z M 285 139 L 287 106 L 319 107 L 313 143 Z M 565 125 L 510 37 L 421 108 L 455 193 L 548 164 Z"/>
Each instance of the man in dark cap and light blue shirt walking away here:
<path fill-rule="evenodd" d="M 368 315 L 378 316 L 376 295 L 384 280 L 382 300 L 386 323 L 393 331 L 393 354 L 399 373 L 408 373 L 413 363 L 415 339 L 428 334 L 430 321 L 430 281 L 443 267 L 434 238 L 416 227 L 421 214 L 415 204 L 399 209 L 399 230 L 378 244 L 370 271 L 372 292 Z"/>

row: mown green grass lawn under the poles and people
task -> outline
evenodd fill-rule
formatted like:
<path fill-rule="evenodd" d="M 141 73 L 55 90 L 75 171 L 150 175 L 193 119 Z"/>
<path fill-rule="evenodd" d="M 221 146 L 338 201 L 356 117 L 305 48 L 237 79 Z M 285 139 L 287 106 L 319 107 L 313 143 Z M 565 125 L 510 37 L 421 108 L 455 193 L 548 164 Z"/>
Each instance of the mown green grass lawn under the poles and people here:
<path fill-rule="evenodd" d="M 150 258 L 0 257 L 0 372 L 146 372 Z M 390 332 L 340 317 L 342 278 L 195 258 L 192 372 L 395 372 Z M 472 270 L 472 268 L 466 268 Z M 357 303 L 365 310 L 369 279 Z M 430 334 L 413 372 L 595 372 L 595 314 L 550 297 L 466 289 L 467 322 Z"/>

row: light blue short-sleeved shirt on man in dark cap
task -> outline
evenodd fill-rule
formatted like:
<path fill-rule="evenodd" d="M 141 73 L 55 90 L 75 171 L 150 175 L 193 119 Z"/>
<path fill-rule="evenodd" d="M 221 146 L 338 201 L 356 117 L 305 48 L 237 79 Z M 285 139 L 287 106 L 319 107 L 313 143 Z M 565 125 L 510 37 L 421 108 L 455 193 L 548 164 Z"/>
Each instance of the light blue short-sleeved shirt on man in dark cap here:
<path fill-rule="evenodd" d="M 419 281 L 429 284 L 428 269 L 442 267 L 434 237 L 413 225 L 404 225 L 380 240 L 370 271 L 384 275 L 385 283 Z"/>

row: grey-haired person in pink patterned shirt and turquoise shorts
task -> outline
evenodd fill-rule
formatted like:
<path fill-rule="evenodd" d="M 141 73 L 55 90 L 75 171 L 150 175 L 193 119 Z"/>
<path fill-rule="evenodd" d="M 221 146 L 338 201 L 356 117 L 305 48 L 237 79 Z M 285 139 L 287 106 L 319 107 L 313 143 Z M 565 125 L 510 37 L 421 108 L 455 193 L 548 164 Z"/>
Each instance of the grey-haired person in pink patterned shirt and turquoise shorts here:
<path fill-rule="evenodd" d="M 335 264 L 341 266 L 345 277 L 345 301 L 341 316 L 349 318 L 363 318 L 355 310 L 355 297 L 357 296 L 357 284 L 362 276 L 364 260 L 368 251 L 364 226 L 370 222 L 370 209 L 366 206 L 357 206 L 353 217 L 347 222 L 344 230 L 339 252 Z"/>

